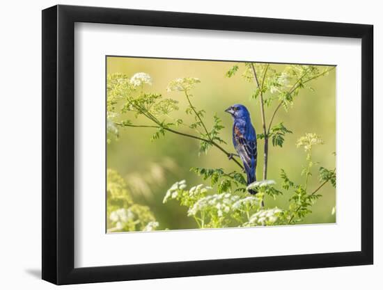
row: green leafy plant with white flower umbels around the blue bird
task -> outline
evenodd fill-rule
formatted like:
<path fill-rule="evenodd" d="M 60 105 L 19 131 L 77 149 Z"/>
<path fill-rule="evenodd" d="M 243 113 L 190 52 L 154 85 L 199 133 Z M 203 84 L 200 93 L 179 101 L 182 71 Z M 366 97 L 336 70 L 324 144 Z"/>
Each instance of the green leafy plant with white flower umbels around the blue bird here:
<path fill-rule="evenodd" d="M 242 67 L 243 66 L 243 67 Z M 242 67 L 242 73 L 240 73 Z M 108 141 L 118 138 L 120 129 L 140 127 L 153 131 L 152 141 L 175 134 L 179 138 L 190 138 L 199 143 L 198 154 L 209 154 L 210 150 L 219 150 L 233 162 L 237 170 L 225 172 L 222 168 L 190 168 L 208 185 L 198 184 L 189 189 L 185 180 L 176 182 L 164 196 L 164 203 L 179 202 L 187 207 L 187 216 L 195 220 L 199 228 L 213 227 L 253 227 L 257 225 L 291 225 L 300 223 L 311 213 L 313 204 L 321 197 L 320 189 L 327 183 L 336 186 L 336 170 L 319 166 L 313 161 L 313 148 L 322 145 L 317 134 L 306 134 L 297 140 L 297 147 L 306 152 L 306 163 L 302 170 L 302 180 L 292 181 L 288 173 L 281 168 L 281 184 L 267 179 L 269 163 L 269 144 L 283 147 L 286 135 L 292 130 L 284 122 L 274 124 L 274 119 L 281 108 L 289 111 L 299 92 L 304 88 L 313 90 L 311 81 L 326 76 L 334 67 L 314 65 L 286 65 L 283 72 L 274 70 L 270 64 L 244 63 L 237 64 L 226 72 L 228 78 L 241 74 L 244 81 L 253 83 L 251 95 L 254 105 L 260 107 L 262 131 L 258 141 L 263 142 L 262 180 L 247 185 L 243 166 L 236 154 L 226 149 L 229 145 L 220 136 L 224 127 L 221 119 L 215 114 L 207 113 L 203 108 L 194 105 L 193 90 L 201 81 L 195 77 L 185 77 L 170 81 L 166 90 L 170 95 L 184 97 L 187 106 L 180 108 L 176 99 L 163 97 L 159 93 L 148 92 L 153 80 L 150 75 L 139 72 L 130 77 L 124 74 L 107 76 L 107 133 Z M 258 102 L 258 104 L 256 104 Z M 270 110 L 269 120 L 265 111 Z M 183 111 L 185 118 L 173 118 L 172 112 Z M 179 115 L 179 114 L 178 114 Z M 129 117 L 129 118 L 128 118 Z M 140 118 L 139 118 L 140 117 Z M 140 123 L 137 120 L 145 120 Z M 210 126 L 206 120 L 209 120 Z M 187 121 L 189 120 L 189 121 Z M 192 121 L 190 121 L 192 120 Z M 270 141 L 270 143 L 269 143 Z M 313 170 L 318 170 L 318 186 L 308 191 Z M 156 222 L 150 209 L 136 204 L 128 197 L 123 180 L 111 170 L 108 172 L 108 216 L 111 225 L 118 230 L 156 229 Z M 119 186 L 116 184 L 120 184 Z M 124 189 L 125 188 L 125 189 Z M 249 195 L 249 190 L 256 191 Z M 121 196 L 125 198 L 121 198 Z M 285 208 L 267 208 L 265 196 L 275 200 L 281 195 L 288 195 Z M 109 210 L 110 205 L 110 210 Z M 130 218 L 135 214 L 136 218 Z"/>

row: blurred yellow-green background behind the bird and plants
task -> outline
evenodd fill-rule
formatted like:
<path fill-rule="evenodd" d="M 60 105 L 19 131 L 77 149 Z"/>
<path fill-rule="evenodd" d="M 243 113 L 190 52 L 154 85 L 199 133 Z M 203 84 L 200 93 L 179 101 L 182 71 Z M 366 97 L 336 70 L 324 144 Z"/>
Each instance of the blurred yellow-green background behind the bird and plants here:
<path fill-rule="evenodd" d="M 258 99 L 251 99 L 254 83 L 242 79 L 240 71 L 233 77 L 226 77 L 226 72 L 238 64 L 237 62 L 222 61 L 189 61 L 156 58 L 107 57 L 107 74 L 122 73 L 133 76 L 136 72 L 146 72 L 153 79 L 153 86 L 145 86 L 147 92 L 159 92 L 164 97 L 176 99 L 180 110 L 172 113 L 174 118 L 188 120 L 185 117 L 187 100 L 181 92 L 167 92 L 168 83 L 180 77 L 197 77 L 201 80 L 192 91 L 193 103 L 199 109 L 205 109 L 205 123 L 212 124 L 212 116 L 217 113 L 225 126 L 221 138 L 226 140 L 226 150 L 234 152 L 231 143 L 231 127 L 233 121 L 224 110 L 232 104 L 241 103 L 247 106 L 251 113 L 253 126 L 257 133 L 261 133 L 260 108 Z M 273 64 L 278 71 L 286 65 Z M 276 181 L 279 188 L 281 179 L 280 169 L 288 173 L 290 179 L 303 182 L 302 166 L 305 164 L 306 154 L 302 148 L 296 147 L 297 139 L 306 133 L 316 133 L 325 141 L 324 145 L 313 148 L 313 161 L 320 166 L 334 168 L 336 158 L 336 72 L 311 81 L 314 91 L 304 89 L 299 92 L 294 105 L 286 113 L 279 111 L 274 124 L 283 124 L 293 133 L 286 135 L 283 147 L 269 145 L 268 179 Z M 276 104 L 266 108 L 266 118 L 269 120 Z M 183 109 L 182 109 L 183 108 Z M 127 118 L 134 120 L 132 116 Z M 140 123 L 140 120 L 137 120 Z M 141 122 L 142 123 L 142 122 Z M 224 168 L 230 172 L 236 170 L 235 164 L 228 161 L 226 156 L 217 149 L 210 149 L 207 155 L 198 156 L 198 140 L 183 138 L 168 133 L 165 138 L 150 141 L 155 129 L 127 127 L 120 130 L 118 140 L 112 140 L 107 145 L 107 167 L 117 170 L 127 182 L 134 202 L 150 207 L 159 222 L 159 229 L 190 229 L 195 228 L 193 218 L 187 217 L 187 207 L 178 202 L 162 203 L 167 189 L 175 182 L 186 179 L 188 186 L 207 184 L 193 172 L 192 167 Z M 262 177 L 263 168 L 263 140 L 258 140 L 257 179 Z M 313 170 L 313 177 L 308 191 L 318 187 L 318 166 Z M 208 184 L 207 184 L 208 185 Z M 336 190 L 331 184 L 326 184 L 320 192 L 323 196 L 312 207 L 302 223 L 334 223 L 336 216 L 331 213 L 336 205 Z M 266 197 L 266 207 L 288 206 L 290 195 L 283 195 L 276 200 Z"/>

